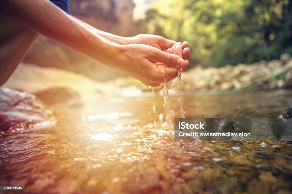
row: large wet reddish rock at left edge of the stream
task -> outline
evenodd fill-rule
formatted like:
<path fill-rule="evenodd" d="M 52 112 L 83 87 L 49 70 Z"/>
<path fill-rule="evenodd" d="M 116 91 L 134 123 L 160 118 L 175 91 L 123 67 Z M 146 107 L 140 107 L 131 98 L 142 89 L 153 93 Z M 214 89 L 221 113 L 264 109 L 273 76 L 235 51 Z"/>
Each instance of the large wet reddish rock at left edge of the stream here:
<path fill-rule="evenodd" d="M 9 88 L 0 88 L 1 130 L 45 127 L 57 119 L 51 109 L 35 95 Z"/>

